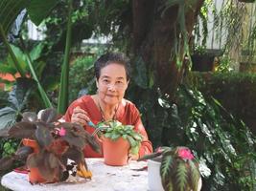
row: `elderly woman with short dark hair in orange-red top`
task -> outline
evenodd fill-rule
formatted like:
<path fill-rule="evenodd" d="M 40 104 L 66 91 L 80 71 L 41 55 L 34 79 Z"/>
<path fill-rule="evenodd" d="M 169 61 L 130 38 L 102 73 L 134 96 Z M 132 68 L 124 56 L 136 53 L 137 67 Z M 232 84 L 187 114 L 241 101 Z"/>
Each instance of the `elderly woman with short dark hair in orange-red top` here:
<path fill-rule="evenodd" d="M 105 53 L 94 64 L 97 94 L 81 96 L 75 100 L 65 114 L 65 120 L 84 126 L 89 133 L 94 132 L 87 122 L 97 124 L 109 119 L 119 120 L 125 125 L 134 125 L 134 130 L 143 136 L 137 155 L 129 154 L 130 159 L 138 159 L 152 152 L 151 141 L 142 124 L 136 106 L 124 98 L 130 78 L 130 65 L 123 53 Z M 101 144 L 101 142 L 100 142 Z M 101 144 L 102 145 L 102 144 Z M 89 146 L 84 148 L 85 157 L 99 158 Z"/>

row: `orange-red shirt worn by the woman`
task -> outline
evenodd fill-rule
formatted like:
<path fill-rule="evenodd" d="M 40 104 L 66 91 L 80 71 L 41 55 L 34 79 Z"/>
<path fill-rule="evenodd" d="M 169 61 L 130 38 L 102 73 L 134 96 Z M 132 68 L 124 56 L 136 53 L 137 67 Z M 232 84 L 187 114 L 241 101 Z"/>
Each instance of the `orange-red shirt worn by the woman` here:
<path fill-rule="evenodd" d="M 98 107 L 96 106 L 94 100 L 91 96 L 81 96 L 77 100 L 75 100 L 67 109 L 65 114 L 65 120 L 70 122 L 71 116 L 73 114 L 73 110 L 80 106 L 81 109 L 87 112 L 88 117 L 90 117 L 91 121 L 94 124 L 97 124 L 102 120 L 101 112 L 99 111 Z M 147 154 L 151 154 L 152 146 L 151 141 L 148 138 L 147 132 L 142 124 L 140 114 L 136 106 L 128 101 L 127 99 L 123 99 L 122 103 L 120 103 L 117 113 L 115 115 L 115 119 L 119 120 L 124 125 L 133 125 L 134 130 L 139 132 L 143 136 L 143 141 L 141 142 L 141 147 L 139 149 L 139 157 L 142 157 Z M 85 130 L 92 134 L 95 129 L 90 126 L 84 126 Z M 97 137 L 97 136 L 96 136 Z M 102 141 L 100 138 L 97 137 L 101 148 L 103 150 Z M 94 152 L 89 145 L 84 148 L 84 157 L 87 158 L 102 158 L 103 154 L 98 154 Z"/>

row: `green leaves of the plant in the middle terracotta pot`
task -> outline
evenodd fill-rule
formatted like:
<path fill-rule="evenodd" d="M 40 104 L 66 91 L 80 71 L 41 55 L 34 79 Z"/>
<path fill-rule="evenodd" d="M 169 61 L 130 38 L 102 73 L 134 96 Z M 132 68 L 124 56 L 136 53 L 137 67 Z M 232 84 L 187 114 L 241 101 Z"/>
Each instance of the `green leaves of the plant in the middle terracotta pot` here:
<path fill-rule="evenodd" d="M 130 145 L 130 152 L 138 154 L 142 136 L 133 130 L 132 125 L 123 125 L 117 120 L 109 120 L 97 124 L 99 129 L 104 130 L 104 137 L 112 140 L 118 138 L 127 139 Z"/>

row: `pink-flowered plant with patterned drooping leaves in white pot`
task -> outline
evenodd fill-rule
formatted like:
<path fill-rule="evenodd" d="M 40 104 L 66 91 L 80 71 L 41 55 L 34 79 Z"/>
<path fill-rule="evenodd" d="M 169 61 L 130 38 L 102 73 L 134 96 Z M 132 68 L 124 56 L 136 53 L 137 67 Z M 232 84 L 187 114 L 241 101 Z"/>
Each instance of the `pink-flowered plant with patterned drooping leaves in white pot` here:
<path fill-rule="evenodd" d="M 201 188 L 198 161 L 187 147 L 160 147 L 138 160 L 148 160 L 151 191 L 198 191 Z"/>

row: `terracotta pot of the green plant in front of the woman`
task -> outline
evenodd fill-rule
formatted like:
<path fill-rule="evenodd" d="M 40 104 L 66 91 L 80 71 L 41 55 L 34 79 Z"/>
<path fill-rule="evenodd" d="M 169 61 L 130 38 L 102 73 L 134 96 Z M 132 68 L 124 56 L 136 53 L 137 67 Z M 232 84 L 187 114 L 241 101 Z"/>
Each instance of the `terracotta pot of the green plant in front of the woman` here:
<path fill-rule="evenodd" d="M 129 143 L 127 139 L 118 138 L 111 140 L 103 138 L 105 164 L 111 166 L 123 166 L 128 164 Z"/>

